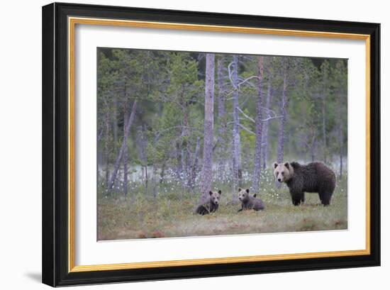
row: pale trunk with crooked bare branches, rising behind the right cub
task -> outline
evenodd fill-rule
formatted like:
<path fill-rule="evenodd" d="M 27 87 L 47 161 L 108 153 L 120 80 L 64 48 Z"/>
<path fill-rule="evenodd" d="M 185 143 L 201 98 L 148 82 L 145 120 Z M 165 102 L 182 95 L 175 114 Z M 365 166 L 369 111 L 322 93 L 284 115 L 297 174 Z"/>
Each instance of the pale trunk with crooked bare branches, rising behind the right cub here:
<path fill-rule="evenodd" d="M 241 169 L 240 119 L 238 118 L 238 55 L 233 55 L 233 180 L 234 186 L 241 186 L 243 177 Z M 233 190 L 234 191 L 234 190 Z M 233 201 L 235 200 L 233 192 Z"/>

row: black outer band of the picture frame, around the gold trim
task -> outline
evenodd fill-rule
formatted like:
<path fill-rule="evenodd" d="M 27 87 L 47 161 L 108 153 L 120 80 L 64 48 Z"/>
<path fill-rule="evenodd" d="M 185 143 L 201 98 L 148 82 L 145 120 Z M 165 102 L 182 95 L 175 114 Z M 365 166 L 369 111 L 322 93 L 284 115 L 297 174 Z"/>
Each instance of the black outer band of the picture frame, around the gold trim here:
<path fill-rule="evenodd" d="M 91 17 L 367 34 L 370 48 L 370 255 L 240 262 L 96 272 L 68 272 L 67 17 Z M 225 13 L 49 4 L 43 6 L 43 283 L 103 284 L 292 272 L 380 264 L 380 25 Z"/>

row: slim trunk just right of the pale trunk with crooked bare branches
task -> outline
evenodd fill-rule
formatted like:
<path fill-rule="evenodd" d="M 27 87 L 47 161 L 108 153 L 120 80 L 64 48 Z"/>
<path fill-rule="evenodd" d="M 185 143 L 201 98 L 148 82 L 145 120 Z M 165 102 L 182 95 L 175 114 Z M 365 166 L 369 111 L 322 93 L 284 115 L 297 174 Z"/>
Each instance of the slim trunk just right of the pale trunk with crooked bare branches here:
<path fill-rule="evenodd" d="M 256 141 L 255 160 L 252 176 L 252 191 L 259 191 L 261 157 L 262 157 L 262 101 L 263 101 L 263 79 L 264 79 L 264 57 L 259 57 L 259 81 L 257 84 L 257 115 L 256 115 Z"/>

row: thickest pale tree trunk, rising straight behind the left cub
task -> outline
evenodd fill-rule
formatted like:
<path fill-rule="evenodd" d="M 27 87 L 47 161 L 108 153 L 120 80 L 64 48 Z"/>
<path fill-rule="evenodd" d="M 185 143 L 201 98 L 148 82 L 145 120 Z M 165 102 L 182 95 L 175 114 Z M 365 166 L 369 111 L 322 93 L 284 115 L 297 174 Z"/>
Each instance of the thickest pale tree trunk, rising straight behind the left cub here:
<path fill-rule="evenodd" d="M 211 190 L 213 174 L 213 126 L 214 126 L 214 60 L 213 53 L 206 54 L 206 84 L 204 95 L 204 147 L 201 173 L 201 199 Z"/>

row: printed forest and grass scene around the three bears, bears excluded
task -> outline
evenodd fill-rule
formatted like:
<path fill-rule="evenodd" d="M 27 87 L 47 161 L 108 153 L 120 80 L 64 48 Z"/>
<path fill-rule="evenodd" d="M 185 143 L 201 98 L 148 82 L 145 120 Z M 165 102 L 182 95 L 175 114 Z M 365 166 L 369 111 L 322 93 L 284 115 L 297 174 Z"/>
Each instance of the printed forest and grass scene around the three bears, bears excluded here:
<path fill-rule="evenodd" d="M 99 48 L 98 239 L 347 228 L 347 60 Z M 321 161 L 332 206 L 273 162 Z M 238 188 L 266 202 L 237 213 Z M 218 213 L 196 203 L 221 189 Z M 212 226 L 211 226 L 212 225 Z"/>

